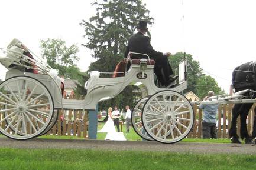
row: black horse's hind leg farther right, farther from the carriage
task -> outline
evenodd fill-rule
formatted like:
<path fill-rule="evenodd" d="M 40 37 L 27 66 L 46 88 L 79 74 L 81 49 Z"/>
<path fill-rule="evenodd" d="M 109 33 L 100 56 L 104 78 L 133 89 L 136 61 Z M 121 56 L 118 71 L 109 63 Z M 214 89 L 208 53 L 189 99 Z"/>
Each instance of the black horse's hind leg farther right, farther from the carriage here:
<path fill-rule="evenodd" d="M 249 109 L 251 109 L 252 104 L 242 104 L 241 110 L 240 110 L 240 121 L 241 121 L 241 128 L 240 128 L 240 134 L 241 139 L 245 139 L 246 144 L 252 144 L 251 136 L 249 136 L 247 131 L 247 124 L 246 119 L 249 113 Z"/>

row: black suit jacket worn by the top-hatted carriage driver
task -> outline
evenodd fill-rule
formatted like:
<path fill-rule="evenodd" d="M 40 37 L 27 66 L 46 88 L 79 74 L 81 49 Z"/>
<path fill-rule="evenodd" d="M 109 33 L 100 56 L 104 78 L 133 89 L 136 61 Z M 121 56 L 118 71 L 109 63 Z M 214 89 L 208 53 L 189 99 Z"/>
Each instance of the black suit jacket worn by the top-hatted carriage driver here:
<path fill-rule="evenodd" d="M 157 59 L 159 56 L 163 55 L 162 52 L 154 51 L 153 47 L 150 44 L 150 38 L 148 36 L 144 36 L 141 32 L 138 32 L 129 38 L 128 45 L 125 51 L 125 56 L 124 56 L 125 58 L 127 58 L 127 55 L 129 52 L 144 53 L 149 55 L 150 59 Z M 134 58 L 147 59 L 147 56 L 132 54 L 132 59 Z"/>

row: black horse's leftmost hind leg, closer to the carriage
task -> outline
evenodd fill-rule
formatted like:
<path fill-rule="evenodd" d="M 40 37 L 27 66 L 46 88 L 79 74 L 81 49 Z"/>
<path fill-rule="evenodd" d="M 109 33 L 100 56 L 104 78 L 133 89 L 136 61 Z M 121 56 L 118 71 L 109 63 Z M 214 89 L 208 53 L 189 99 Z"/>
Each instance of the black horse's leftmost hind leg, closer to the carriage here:
<path fill-rule="evenodd" d="M 241 111 L 242 104 L 235 104 L 232 108 L 232 121 L 231 128 L 229 129 L 229 137 L 231 138 L 232 143 L 241 143 L 236 132 L 236 122 L 239 116 L 239 111 Z"/>

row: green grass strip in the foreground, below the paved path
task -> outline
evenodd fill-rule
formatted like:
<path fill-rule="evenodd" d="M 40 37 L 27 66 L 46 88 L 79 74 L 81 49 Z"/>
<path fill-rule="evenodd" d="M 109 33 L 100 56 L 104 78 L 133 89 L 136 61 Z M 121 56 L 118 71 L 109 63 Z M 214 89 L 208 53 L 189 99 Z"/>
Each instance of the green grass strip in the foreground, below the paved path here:
<path fill-rule="evenodd" d="M 256 169 L 256 155 L 0 148 L 0 169 Z"/>

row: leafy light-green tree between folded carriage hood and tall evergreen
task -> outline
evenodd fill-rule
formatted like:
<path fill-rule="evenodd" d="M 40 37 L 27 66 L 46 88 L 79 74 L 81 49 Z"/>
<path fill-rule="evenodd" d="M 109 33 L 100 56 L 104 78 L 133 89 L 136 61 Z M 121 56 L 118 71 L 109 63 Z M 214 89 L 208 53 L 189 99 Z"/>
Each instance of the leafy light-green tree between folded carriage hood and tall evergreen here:
<path fill-rule="evenodd" d="M 65 78 L 72 78 L 74 71 L 79 71 L 76 63 L 79 61 L 77 45 L 66 46 L 66 42 L 61 39 L 41 40 L 41 56 L 46 58 L 48 65 L 59 70 L 59 75 Z"/>

